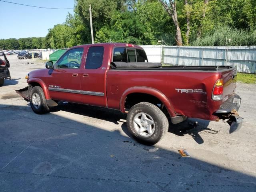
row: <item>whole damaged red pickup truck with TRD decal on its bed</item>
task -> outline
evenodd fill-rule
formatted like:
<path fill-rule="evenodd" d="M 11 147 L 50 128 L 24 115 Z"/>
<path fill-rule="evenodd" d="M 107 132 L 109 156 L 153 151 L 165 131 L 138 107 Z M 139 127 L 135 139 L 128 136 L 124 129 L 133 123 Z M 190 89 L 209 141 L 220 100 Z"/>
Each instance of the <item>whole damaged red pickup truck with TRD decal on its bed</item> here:
<path fill-rule="evenodd" d="M 242 126 L 237 112 L 234 66 L 162 66 L 150 63 L 140 46 L 103 43 L 75 46 L 46 69 L 27 76 L 17 90 L 37 114 L 58 101 L 128 113 L 127 127 L 144 144 L 155 144 L 186 118 L 228 119 L 230 133 Z"/>

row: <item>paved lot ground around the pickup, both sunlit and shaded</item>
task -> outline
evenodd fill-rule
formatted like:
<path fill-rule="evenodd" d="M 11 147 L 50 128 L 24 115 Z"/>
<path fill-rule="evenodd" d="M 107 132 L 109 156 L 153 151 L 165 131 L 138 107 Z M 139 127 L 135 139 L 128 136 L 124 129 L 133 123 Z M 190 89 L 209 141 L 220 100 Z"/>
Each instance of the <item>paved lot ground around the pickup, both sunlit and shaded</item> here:
<path fill-rule="evenodd" d="M 44 63 L 8 59 L 12 80 L 0 87 L 1 192 L 256 191 L 255 84 L 237 84 L 238 132 L 229 134 L 226 122 L 188 119 L 145 146 L 130 138 L 126 114 L 116 110 L 61 103 L 35 114 L 14 90 Z"/>

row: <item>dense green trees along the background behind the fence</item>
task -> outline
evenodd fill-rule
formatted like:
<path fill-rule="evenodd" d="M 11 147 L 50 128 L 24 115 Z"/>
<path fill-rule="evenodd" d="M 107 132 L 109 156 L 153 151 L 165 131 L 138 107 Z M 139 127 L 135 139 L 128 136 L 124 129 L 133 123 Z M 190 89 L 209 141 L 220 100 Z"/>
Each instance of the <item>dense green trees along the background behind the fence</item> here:
<path fill-rule="evenodd" d="M 49 29 L 45 38 L 0 40 L 0 49 L 91 43 L 89 4 L 96 43 L 158 44 L 163 39 L 176 45 L 178 26 L 182 45 L 256 45 L 255 0 L 75 0 L 74 14 Z"/>

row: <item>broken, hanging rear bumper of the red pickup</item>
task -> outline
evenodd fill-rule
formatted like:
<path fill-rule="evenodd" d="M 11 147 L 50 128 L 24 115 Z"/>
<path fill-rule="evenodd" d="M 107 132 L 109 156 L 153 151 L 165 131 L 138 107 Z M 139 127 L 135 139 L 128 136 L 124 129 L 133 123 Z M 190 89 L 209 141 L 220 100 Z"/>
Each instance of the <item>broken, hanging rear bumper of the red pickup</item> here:
<path fill-rule="evenodd" d="M 215 115 L 218 116 L 218 120 L 226 120 L 230 125 L 229 133 L 236 132 L 240 130 L 243 123 L 243 118 L 238 115 L 238 110 L 241 104 L 241 98 L 238 94 L 234 94 L 223 102 L 220 108 L 215 112 Z"/>

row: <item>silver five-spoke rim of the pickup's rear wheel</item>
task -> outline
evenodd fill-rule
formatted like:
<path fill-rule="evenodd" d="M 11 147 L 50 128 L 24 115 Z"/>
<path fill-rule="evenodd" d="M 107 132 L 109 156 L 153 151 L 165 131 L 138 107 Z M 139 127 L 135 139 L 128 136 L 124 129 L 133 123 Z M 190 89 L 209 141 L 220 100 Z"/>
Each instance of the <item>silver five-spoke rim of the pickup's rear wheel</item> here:
<path fill-rule="evenodd" d="M 150 137 L 155 132 L 155 122 L 153 118 L 147 113 L 138 113 L 134 116 L 133 125 L 138 132 L 143 137 Z"/>

